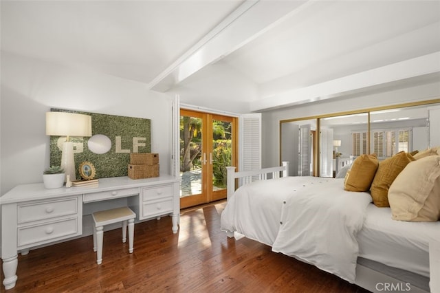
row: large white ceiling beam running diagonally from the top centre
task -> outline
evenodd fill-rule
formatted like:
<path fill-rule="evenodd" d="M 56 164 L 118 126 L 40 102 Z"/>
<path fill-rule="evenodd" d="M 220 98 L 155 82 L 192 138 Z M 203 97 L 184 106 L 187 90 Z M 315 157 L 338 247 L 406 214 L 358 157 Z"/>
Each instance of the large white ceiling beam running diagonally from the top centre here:
<path fill-rule="evenodd" d="M 206 65 L 243 47 L 285 17 L 314 1 L 245 1 L 214 30 L 197 42 L 149 84 L 155 91 L 167 91 Z"/>

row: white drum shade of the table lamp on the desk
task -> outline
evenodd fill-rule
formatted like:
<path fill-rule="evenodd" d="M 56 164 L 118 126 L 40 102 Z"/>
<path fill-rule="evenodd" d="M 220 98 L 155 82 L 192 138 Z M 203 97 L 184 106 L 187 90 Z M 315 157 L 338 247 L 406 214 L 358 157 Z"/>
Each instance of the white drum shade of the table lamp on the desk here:
<path fill-rule="evenodd" d="M 46 135 L 91 136 L 91 116 L 67 112 L 46 112 Z"/>

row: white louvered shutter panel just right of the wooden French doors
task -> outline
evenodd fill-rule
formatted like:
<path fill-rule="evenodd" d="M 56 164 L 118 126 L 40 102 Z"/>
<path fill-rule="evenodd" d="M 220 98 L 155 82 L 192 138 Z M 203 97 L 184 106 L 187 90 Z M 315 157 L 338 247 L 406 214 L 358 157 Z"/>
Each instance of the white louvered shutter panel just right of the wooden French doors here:
<path fill-rule="evenodd" d="M 239 171 L 261 169 L 261 113 L 239 119 Z"/>

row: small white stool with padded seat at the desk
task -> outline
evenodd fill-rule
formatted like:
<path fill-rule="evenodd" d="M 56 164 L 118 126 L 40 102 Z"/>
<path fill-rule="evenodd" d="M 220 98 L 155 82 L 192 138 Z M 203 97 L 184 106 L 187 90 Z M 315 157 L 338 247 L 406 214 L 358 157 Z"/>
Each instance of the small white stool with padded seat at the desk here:
<path fill-rule="evenodd" d="M 91 214 L 95 222 L 94 227 L 94 251 L 96 254 L 96 263 L 102 263 L 102 239 L 104 238 L 103 226 L 122 221 L 122 242 L 126 241 L 126 222 L 129 221 L 129 252 L 133 252 L 133 239 L 135 235 L 135 217 L 136 214 L 130 208 L 113 208 L 111 210 L 102 210 Z"/>

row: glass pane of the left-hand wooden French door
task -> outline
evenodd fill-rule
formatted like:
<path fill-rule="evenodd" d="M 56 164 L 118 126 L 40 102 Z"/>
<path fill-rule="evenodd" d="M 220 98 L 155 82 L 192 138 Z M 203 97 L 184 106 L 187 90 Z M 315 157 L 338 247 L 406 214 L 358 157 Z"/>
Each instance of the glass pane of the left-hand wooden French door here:
<path fill-rule="evenodd" d="M 180 116 L 180 197 L 201 193 L 201 118 Z"/>

